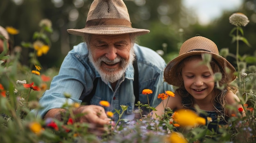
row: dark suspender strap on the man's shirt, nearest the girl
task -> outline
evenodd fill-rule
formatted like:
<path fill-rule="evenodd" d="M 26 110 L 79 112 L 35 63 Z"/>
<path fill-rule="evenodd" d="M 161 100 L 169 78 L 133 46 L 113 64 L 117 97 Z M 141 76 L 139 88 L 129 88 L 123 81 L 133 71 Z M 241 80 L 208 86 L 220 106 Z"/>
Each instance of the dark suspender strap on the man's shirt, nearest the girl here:
<path fill-rule="evenodd" d="M 133 94 L 135 95 L 135 104 L 137 104 L 137 102 L 139 101 L 139 71 L 136 55 L 132 65 L 134 68 Z"/>

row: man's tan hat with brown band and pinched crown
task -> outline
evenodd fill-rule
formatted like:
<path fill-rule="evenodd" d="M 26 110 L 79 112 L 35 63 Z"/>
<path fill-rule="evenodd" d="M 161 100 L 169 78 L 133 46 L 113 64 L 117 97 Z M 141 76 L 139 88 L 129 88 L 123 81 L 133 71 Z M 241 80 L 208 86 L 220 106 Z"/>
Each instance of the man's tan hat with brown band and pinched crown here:
<path fill-rule="evenodd" d="M 94 0 L 88 12 L 85 28 L 67 29 L 73 35 L 121 35 L 149 33 L 146 29 L 132 28 L 130 17 L 123 0 Z"/>

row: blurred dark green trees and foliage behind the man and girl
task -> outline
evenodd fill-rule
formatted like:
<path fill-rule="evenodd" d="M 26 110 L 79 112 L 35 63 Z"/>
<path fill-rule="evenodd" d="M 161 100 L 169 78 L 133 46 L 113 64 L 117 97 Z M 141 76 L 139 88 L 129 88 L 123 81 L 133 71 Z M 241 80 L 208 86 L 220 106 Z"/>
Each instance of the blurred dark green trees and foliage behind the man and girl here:
<path fill-rule="evenodd" d="M 0 0 L 0 25 L 13 26 L 20 33 L 14 35 L 13 47 L 21 42 L 32 42 L 34 31 L 42 19 L 52 21 L 52 45 L 46 55 L 38 57 L 43 69 L 59 68 L 67 52 L 79 42 L 81 37 L 70 35 L 67 29 L 80 29 L 85 26 L 88 9 L 93 0 Z M 234 25 L 229 23 L 229 16 L 235 12 L 247 15 L 250 22 L 243 27 L 245 38 L 251 44 L 240 43 L 240 55 L 256 57 L 256 0 L 243 0 L 239 9 L 224 11 L 222 16 L 208 25 L 200 25 L 195 12 L 186 9 L 182 0 L 124 0 L 130 13 L 132 26 L 149 29 L 150 33 L 142 35 L 140 45 L 155 51 L 164 51 L 164 59 L 169 62 L 178 55 L 180 45 L 197 34 L 215 42 L 219 49 L 229 48 L 236 53 L 236 43 L 231 44 L 229 31 Z M 29 48 L 22 48 L 20 62 L 28 65 Z M 235 59 L 228 59 L 236 66 Z M 256 61 L 247 61 L 256 64 Z"/>

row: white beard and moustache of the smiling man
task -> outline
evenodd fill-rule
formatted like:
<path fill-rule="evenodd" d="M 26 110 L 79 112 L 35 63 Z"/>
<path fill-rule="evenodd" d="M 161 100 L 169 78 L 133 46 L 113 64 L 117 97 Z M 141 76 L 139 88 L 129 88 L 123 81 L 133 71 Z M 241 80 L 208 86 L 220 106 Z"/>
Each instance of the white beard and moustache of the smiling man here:
<path fill-rule="evenodd" d="M 101 75 L 101 79 L 106 82 L 114 83 L 121 79 L 121 77 L 124 75 L 128 65 L 132 63 L 135 59 L 135 52 L 133 47 L 130 49 L 130 58 L 126 61 L 125 59 L 121 58 L 119 55 L 114 60 L 110 60 L 105 56 L 99 57 L 97 61 L 94 61 L 92 57 L 92 53 L 89 50 L 88 55 L 90 61 L 92 62 L 92 65 L 95 67 L 95 69 L 98 71 L 99 75 Z M 101 69 L 101 62 L 106 62 L 108 64 L 116 64 L 118 62 L 121 62 L 121 69 L 116 68 L 107 68 L 104 70 Z M 107 70 L 107 72 L 106 72 Z"/>

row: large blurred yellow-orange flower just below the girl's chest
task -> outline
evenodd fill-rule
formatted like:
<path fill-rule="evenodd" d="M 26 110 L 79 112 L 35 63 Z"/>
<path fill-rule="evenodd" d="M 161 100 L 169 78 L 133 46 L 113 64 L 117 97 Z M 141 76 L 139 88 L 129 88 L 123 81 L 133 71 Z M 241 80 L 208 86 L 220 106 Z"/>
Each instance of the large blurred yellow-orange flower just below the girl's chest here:
<path fill-rule="evenodd" d="M 189 117 L 189 119 L 188 119 Z M 199 117 L 192 110 L 177 110 L 173 114 L 173 120 L 181 126 L 195 126 L 195 125 L 205 125 L 205 119 Z"/>

